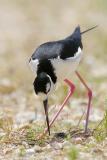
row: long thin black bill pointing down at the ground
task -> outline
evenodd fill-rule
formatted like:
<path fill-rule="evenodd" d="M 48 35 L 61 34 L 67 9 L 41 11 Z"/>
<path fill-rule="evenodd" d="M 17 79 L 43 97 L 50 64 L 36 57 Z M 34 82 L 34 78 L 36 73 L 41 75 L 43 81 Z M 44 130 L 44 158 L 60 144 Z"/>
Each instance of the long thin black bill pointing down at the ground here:
<path fill-rule="evenodd" d="M 49 118 L 48 118 L 48 99 L 43 101 L 44 104 L 44 110 L 45 110 L 45 115 L 46 115 L 46 122 L 47 122 L 47 127 L 48 127 L 48 133 L 50 135 L 50 126 L 49 126 Z"/>

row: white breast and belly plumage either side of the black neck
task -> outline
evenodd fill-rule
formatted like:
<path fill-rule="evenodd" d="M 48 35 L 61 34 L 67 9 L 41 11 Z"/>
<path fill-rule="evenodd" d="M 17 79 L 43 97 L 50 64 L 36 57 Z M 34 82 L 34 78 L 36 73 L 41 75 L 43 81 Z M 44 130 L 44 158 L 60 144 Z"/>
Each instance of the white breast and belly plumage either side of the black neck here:
<path fill-rule="evenodd" d="M 65 78 L 69 78 L 71 73 L 73 73 L 80 60 L 82 58 L 82 50 L 79 47 L 78 52 L 75 53 L 74 57 L 67 58 L 65 60 L 58 58 L 50 59 L 57 75 L 57 81 L 63 81 Z M 37 74 L 37 68 L 39 65 L 38 59 L 31 59 L 29 63 L 32 71 Z"/>

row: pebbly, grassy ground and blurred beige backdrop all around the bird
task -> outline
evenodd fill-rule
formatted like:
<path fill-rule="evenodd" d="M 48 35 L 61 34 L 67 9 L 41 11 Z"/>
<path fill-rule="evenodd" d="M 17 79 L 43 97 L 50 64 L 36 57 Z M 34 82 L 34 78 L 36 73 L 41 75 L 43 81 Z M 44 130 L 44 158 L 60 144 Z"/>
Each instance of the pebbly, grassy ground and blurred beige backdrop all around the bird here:
<path fill-rule="evenodd" d="M 107 158 L 106 0 L 0 0 L 0 159 L 103 160 Z M 80 24 L 84 57 L 78 67 L 93 91 L 89 131 L 84 135 L 87 91 L 75 74 L 76 91 L 51 128 L 44 128 L 42 102 L 33 91 L 28 60 L 46 41 L 64 38 Z M 50 97 L 49 117 L 67 94 L 60 85 Z"/>

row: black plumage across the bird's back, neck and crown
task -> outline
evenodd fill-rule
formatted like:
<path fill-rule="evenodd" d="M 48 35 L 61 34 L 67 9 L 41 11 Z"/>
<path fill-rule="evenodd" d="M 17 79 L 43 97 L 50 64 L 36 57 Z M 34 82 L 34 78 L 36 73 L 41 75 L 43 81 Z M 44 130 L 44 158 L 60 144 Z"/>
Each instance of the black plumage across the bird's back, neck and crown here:
<path fill-rule="evenodd" d="M 74 30 L 73 34 L 66 37 L 65 39 L 44 43 L 35 50 L 35 52 L 31 56 L 32 63 L 37 60 L 37 63 L 34 66 L 34 69 L 36 70 L 36 75 L 37 75 L 33 84 L 35 93 L 38 93 L 38 92 L 46 93 L 46 84 L 48 83 L 49 77 L 52 81 L 51 83 L 55 84 L 57 82 L 57 78 L 60 77 L 59 75 L 60 73 L 56 74 L 56 72 L 57 72 L 57 68 L 61 67 L 59 65 L 60 62 L 61 61 L 65 62 L 69 58 L 75 58 L 75 54 L 78 52 L 79 48 L 82 49 L 83 46 L 81 42 L 80 27 L 78 26 Z M 53 62 L 55 61 L 57 61 L 57 64 L 54 65 Z M 78 63 L 78 58 L 75 61 L 77 61 Z M 72 62 L 70 64 L 72 67 Z M 72 68 L 71 68 L 71 71 L 72 71 Z M 65 70 L 63 72 L 65 72 L 66 74 L 67 71 Z M 45 73 L 45 74 L 42 74 L 42 73 Z M 47 78 L 47 75 L 49 76 L 48 78 Z"/>

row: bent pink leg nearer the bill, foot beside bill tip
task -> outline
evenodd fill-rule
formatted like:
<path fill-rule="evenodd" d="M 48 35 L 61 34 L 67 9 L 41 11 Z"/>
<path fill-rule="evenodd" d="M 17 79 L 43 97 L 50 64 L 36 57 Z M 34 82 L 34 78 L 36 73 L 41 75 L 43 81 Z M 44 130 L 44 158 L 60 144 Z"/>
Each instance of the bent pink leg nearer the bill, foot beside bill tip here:
<path fill-rule="evenodd" d="M 75 86 L 74 84 L 72 84 L 71 81 L 69 81 L 68 79 L 65 79 L 64 80 L 67 85 L 70 87 L 70 91 L 68 93 L 68 95 L 66 96 L 64 102 L 62 103 L 60 109 L 58 110 L 58 112 L 55 114 L 55 116 L 53 117 L 53 119 L 51 120 L 49 126 L 51 127 L 52 124 L 54 123 L 54 121 L 57 119 L 58 115 L 60 114 L 60 112 L 62 111 L 62 109 L 64 108 L 65 104 L 68 102 L 69 98 L 72 96 L 72 94 L 74 93 L 74 90 L 75 90 Z M 48 129 L 46 128 L 45 131 L 44 131 L 44 134 L 46 134 L 48 131 Z"/>

